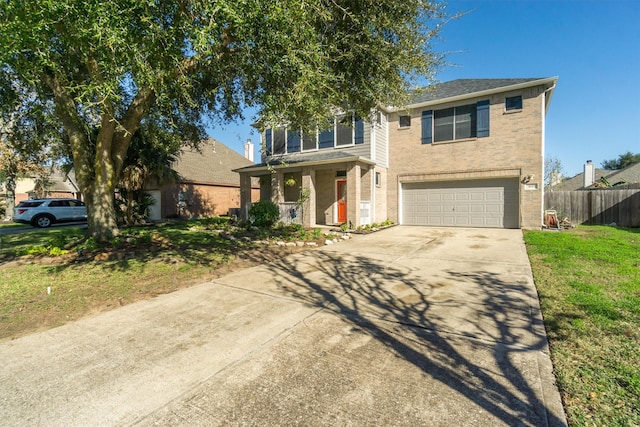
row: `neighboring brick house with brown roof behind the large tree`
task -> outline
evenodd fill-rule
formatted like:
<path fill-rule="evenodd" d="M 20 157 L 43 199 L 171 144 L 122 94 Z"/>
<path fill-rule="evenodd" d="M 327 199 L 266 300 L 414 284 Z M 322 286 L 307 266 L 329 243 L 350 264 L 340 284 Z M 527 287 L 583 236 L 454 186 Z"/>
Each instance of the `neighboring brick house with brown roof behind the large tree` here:
<path fill-rule="evenodd" d="M 205 141 L 200 150 L 183 151 L 172 165 L 180 175 L 179 182 L 146 190 L 156 200 L 150 219 L 228 215 L 240 208 L 240 177 L 232 169 L 252 164 L 215 139 Z M 258 197 L 257 181 L 250 191 L 252 197 Z"/>

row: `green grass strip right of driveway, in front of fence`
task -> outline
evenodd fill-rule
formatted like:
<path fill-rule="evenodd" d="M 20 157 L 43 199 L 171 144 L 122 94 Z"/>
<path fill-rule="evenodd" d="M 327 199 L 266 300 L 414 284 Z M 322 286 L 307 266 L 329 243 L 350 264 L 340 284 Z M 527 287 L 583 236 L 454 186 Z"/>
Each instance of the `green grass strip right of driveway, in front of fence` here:
<path fill-rule="evenodd" d="M 640 425 L 640 229 L 526 231 L 571 426 Z"/>

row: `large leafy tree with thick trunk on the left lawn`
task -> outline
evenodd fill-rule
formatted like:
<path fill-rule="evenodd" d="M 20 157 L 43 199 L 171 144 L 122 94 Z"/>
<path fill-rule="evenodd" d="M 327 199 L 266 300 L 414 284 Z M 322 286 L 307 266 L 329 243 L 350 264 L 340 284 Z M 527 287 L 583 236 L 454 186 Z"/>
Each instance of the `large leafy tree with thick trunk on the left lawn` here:
<path fill-rule="evenodd" d="M 55 104 L 89 235 L 108 240 L 113 191 L 152 108 L 178 134 L 245 105 L 292 124 L 320 122 L 331 106 L 367 117 L 433 78 L 441 12 L 429 0 L 7 0 L 0 80 Z"/>

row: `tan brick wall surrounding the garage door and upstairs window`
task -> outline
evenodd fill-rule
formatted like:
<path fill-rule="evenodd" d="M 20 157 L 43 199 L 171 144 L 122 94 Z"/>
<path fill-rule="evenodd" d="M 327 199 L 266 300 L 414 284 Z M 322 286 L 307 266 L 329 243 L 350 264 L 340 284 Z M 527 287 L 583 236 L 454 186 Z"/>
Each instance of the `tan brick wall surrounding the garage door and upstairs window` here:
<path fill-rule="evenodd" d="M 402 182 L 451 181 L 513 177 L 520 181 L 520 226 L 538 228 L 542 223 L 543 190 L 543 93 L 544 86 L 430 105 L 409 111 L 411 126 L 398 128 L 398 113 L 389 117 L 389 170 L 386 179 L 387 212 L 398 222 L 398 193 Z M 505 98 L 522 95 L 522 110 L 505 111 Z M 421 143 L 423 110 L 439 110 L 490 100 L 490 136 L 450 142 Z M 406 114 L 403 112 L 403 114 Z M 537 184 L 537 189 L 530 189 Z"/>

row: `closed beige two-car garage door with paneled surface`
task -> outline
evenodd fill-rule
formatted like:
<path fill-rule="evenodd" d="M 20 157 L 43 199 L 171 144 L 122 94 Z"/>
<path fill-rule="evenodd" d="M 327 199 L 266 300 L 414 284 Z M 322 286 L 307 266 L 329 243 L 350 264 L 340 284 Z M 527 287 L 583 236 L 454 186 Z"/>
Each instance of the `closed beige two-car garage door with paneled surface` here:
<path fill-rule="evenodd" d="M 517 179 L 402 185 L 407 225 L 519 228 Z"/>

